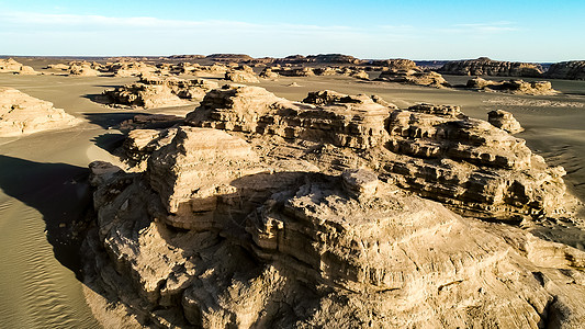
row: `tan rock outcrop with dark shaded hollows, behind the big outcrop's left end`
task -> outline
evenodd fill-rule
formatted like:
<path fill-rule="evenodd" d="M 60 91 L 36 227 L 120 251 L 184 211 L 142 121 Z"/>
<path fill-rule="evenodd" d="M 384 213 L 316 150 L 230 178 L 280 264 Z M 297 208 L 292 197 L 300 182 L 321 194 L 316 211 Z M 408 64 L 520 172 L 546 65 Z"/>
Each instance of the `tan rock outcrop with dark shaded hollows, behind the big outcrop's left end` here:
<path fill-rule="evenodd" d="M 201 100 L 205 92 L 217 88 L 204 79 L 142 77 L 136 83 L 106 90 L 103 95 L 112 104 L 145 109 L 188 105 L 188 100 Z"/>

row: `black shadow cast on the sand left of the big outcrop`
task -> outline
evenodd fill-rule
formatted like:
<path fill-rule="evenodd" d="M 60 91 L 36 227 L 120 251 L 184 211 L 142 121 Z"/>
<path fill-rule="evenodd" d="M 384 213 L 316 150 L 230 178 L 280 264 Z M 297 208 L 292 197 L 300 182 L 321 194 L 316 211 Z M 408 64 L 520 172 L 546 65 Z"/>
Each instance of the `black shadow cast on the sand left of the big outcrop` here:
<path fill-rule="evenodd" d="M 85 225 L 92 208 L 88 174 L 87 168 L 0 155 L 0 189 L 43 215 L 55 258 L 78 279 L 81 239 L 75 230 Z"/>

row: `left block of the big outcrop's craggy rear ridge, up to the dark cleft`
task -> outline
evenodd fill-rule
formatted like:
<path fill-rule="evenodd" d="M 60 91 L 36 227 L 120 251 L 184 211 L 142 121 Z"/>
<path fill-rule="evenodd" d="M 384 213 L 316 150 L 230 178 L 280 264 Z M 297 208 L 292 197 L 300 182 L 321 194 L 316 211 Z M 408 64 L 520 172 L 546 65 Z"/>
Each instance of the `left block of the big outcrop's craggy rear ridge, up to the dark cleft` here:
<path fill-rule="evenodd" d="M 310 94 L 305 102 L 315 104 L 294 103 L 262 88 L 226 86 L 207 93 L 198 111 L 189 114 L 185 121 L 194 126 L 277 135 L 340 147 L 368 148 L 384 143 L 387 106 L 367 95 L 334 95 L 335 101 L 324 105 L 322 99 L 312 98 Z"/>

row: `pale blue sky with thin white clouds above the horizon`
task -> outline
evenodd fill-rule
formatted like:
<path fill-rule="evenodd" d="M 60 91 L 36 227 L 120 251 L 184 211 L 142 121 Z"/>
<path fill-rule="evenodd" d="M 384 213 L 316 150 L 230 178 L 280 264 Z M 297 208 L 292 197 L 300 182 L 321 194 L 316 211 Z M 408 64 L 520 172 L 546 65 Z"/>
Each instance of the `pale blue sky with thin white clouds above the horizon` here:
<path fill-rule="evenodd" d="M 585 1 L 0 0 L 3 55 L 585 59 Z"/>

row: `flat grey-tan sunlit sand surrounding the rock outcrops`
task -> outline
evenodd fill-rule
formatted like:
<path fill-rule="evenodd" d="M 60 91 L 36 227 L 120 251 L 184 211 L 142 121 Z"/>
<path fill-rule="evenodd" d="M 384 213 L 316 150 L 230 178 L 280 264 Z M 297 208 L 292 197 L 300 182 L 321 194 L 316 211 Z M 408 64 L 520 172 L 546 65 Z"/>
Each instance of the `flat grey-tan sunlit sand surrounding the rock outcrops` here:
<path fill-rule="evenodd" d="M 453 83 L 468 79 L 447 78 Z M 64 131 L 0 138 L 0 327 L 99 327 L 76 277 L 76 246 L 66 241 L 72 220 L 83 216 L 89 205 L 83 183 L 87 164 L 115 161 L 109 151 L 123 136 L 110 127 L 146 112 L 108 109 L 92 102 L 91 95 L 134 80 L 0 73 L 0 86 L 50 101 L 85 120 Z M 292 82 L 300 87 L 289 87 Z M 419 102 L 461 105 L 465 114 L 483 120 L 492 110 L 509 111 L 526 128 L 518 137 L 549 163 L 565 167 L 567 182 L 585 200 L 585 81 L 553 81 L 553 88 L 569 93 L 555 97 L 439 90 L 348 77 L 280 78 L 262 80 L 259 86 L 297 101 L 310 91 L 330 89 L 379 94 L 401 107 Z M 194 105 L 148 112 L 184 114 L 192 109 Z"/>

